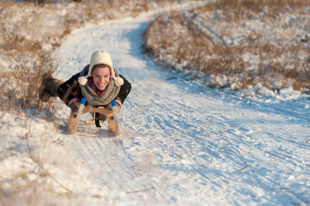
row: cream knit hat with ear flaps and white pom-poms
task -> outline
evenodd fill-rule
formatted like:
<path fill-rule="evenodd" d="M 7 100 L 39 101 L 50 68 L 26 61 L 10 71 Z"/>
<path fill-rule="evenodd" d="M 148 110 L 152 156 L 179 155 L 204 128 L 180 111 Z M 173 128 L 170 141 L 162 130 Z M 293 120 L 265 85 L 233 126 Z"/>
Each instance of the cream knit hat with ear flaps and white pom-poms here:
<path fill-rule="evenodd" d="M 96 64 L 108 65 L 110 67 L 110 78 L 114 79 L 115 85 L 121 86 L 124 84 L 124 80 L 121 77 L 115 77 L 112 59 L 107 51 L 99 50 L 99 51 L 95 51 L 94 53 L 92 53 L 87 77 L 91 77 L 91 69 Z M 83 77 L 78 78 L 78 82 L 80 83 L 80 85 L 86 85 L 88 81 L 87 77 L 83 76 Z"/>

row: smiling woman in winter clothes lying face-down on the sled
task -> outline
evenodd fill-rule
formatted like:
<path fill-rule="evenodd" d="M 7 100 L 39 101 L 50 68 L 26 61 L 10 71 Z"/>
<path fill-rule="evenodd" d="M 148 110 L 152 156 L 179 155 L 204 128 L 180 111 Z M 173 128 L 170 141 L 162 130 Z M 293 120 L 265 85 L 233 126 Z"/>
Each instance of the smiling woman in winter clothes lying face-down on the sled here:
<path fill-rule="evenodd" d="M 130 90 L 131 84 L 117 73 L 109 53 L 99 50 L 91 55 L 90 64 L 82 72 L 65 82 L 44 74 L 40 99 L 47 102 L 50 97 L 57 96 L 73 112 L 78 111 L 82 98 L 88 105 L 104 107 L 111 107 L 111 101 L 115 99 L 119 111 Z M 100 114 L 100 119 L 105 120 L 106 117 Z"/>

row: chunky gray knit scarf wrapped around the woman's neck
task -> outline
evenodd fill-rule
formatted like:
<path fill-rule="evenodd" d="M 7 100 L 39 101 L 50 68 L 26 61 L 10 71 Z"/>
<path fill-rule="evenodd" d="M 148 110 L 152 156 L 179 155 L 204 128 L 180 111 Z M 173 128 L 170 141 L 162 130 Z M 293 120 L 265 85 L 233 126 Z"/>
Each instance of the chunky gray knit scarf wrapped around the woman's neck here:
<path fill-rule="evenodd" d="M 87 75 L 87 74 L 84 74 L 85 69 L 86 67 L 80 73 L 80 77 Z M 117 73 L 116 69 L 115 68 L 113 69 L 115 72 L 115 77 L 119 77 L 119 74 Z M 86 83 L 84 86 L 80 85 L 80 88 L 81 88 L 84 98 L 87 100 L 88 103 L 91 103 L 92 105 L 102 106 L 102 105 L 106 105 L 110 103 L 113 99 L 115 99 L 115 97 L 119 93 L 119 90 L 121 89 L 121 86 L 116 86 L 114 83 L 114 79 L 110 78 L 109 83 L 106 87 L 106 90 L 101 97 L 98 96 L 98 94 L 91 89 L 88 83 Z"/>

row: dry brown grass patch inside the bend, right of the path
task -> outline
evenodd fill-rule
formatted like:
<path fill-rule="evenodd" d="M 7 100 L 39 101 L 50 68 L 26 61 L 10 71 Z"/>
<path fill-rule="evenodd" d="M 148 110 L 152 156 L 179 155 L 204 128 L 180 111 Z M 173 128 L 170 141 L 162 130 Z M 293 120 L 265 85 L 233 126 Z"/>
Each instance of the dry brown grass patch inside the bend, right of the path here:
<path fill-rule="evenodd" d="M 237 44 L 224 41 L 225 36 L 231 35 L 230 31 L 238 25 L 242 28 L 244 22 L 250 18 L 259 19 L 266 24 L 270 21 L 277 23 L 279 20 L 274 18 L 279 16 L 279 12 L 290 12 L 294 15 L 298 12 L 303 13 L 305 3 L 306 1 L 301 0 L 218 1 L 194 9 L 188 14 L 171 12 L 167 16 L 157 17 L 149 24 L 144 33 L 144 49 L 155 59 L 166 61 L 172 68 L 204 72 L 210 77 L 210 81 L 207 82 L 210 87 L 233 85 L 233 89 L 246 89 L 262 83 L 272 90 L 292 85 L 295 90 L 309 93 L 309 59 L 307 62 L 300 58 L 304 54 L 310 54 L 307 39 L 301 39 L 298 43 L 277 36 L 277 41 L 271 42 L 268 40 L 269 33 L 252 32 L 248 35 L 242 33 L 241 35 L 246 37 L 242 37 L 243 40 Z M 274 10 L 268 8 L 267 11 L 267 7 L 274 7 Z M 213 15 L 215 10 L 221 15 L 214 20 L 214 24 L 211 24 L 212 17 L 206 20 L 202 18 L 202 21 L 209 23 L 206 26 L 209 30 L 206 29 L 205 33 L 200 29 L 205 25 L 197 26 L 196 19 L 191 14 Z M 260 12 L 265 12 L 265 15 L 262 16 Z M 217 30 L 214 35 L 212 25 L 217 28 L 218 24 L 223 22 L 228 26 Z M 301 26 L 308 26 L 303 24 L 301 23 Z M 245 60 L 245 55 L 254 60 Z M 227 77 L 226 83 L 221 85 L 215 77 Z M 276 81 L 280 81 L 281 84 L 275 83 Z"/>

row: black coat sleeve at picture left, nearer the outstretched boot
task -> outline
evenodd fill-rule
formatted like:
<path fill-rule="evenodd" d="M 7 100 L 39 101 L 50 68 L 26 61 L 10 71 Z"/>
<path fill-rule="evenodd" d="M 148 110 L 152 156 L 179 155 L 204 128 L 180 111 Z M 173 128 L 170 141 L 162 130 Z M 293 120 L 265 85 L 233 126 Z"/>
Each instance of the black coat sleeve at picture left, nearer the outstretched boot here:
<path fill-rule="evenodd" d="M 78 83 L 78 77 L 80 73 L 73 75 L 70 79 L 62 83 L 58 90 L 58 97 L 69 106 L 69 102 L 73 98 L 82 99 L 83 95 L 80 89 L 80 84 Z"/>

